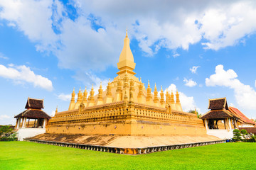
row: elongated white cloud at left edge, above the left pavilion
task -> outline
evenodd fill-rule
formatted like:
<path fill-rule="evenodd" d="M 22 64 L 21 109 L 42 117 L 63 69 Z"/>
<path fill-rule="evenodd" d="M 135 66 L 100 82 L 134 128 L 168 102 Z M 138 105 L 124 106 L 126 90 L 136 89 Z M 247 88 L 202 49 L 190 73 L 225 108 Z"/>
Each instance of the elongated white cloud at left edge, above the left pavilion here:
<path fill-rule="evenodd" d="M 35 87 L 41 87 L 48 91 L 53 90 L 53 84 L 49 79 L 42 77 L 41 75 L 36 75 L 25 65 L 14 66 L 14 64 L 9 64 L 9 67 L 5 67 L 0 64 L 0 77 L 12 79 L 18 83 L 28 82 L 33 84 Z"/>

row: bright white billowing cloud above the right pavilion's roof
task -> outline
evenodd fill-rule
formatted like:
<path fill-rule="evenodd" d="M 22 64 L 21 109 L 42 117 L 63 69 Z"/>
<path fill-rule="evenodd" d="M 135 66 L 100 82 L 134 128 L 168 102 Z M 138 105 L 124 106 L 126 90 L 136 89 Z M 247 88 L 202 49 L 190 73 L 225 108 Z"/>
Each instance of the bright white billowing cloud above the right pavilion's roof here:
<path fill-rule="evenodd" d="M 206 86 L 225 86 L 234 90 L 238 106 L 245 109 L 256 109 L 256 91 L 251 86 L 242 84 L 233 69 L 225 71 L 223 65 L 215 67 L 215 74 L 206 78 Z"/>

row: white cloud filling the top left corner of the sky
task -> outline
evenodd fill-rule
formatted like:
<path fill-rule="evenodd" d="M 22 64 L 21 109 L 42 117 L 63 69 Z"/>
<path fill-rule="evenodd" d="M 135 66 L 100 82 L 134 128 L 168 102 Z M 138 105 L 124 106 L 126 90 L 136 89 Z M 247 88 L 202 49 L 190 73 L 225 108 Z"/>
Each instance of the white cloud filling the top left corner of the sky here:
<path fill-rule="evenodd" d="M 52 29 L 53 1 L 0 1 L 0 18 L 17 28 L 32 42 L 37 42 L 37 50 L 53 50 L 58 41 Z"/>

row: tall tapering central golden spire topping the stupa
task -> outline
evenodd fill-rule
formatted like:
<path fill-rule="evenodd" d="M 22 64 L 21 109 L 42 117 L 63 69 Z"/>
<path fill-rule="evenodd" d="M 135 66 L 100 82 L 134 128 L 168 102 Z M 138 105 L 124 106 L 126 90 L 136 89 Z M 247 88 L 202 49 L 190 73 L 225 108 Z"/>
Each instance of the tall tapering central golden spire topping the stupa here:
<path fill-rule="evenodd" d="M 129 46 L 129 38 L 126 32 L 124 38 L 124 47 L 122 49 L 121 55 L 119 56 L 119 62 L 117 63 L 117 68 L 119 72 L 117 74 L 129 73 L 129 74 L 136 74 L 133 72 L 135 69 L 134 57 L 132 55 L 131 48 Z"/>

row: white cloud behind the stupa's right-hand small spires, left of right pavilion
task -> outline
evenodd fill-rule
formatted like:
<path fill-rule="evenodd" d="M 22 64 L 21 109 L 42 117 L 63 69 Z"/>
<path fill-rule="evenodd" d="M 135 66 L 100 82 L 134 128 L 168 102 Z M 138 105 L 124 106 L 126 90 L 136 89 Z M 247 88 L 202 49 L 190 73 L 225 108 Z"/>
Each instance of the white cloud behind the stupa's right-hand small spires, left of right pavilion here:
<path fill-rule="evenodd" d="M 177 91 L 176 85 L 175 84 L 171 84 L 167 89 L 164 90 L 164 94 L 166 94 L 166 91 L 174 91 L 174 94 Z M 160 91 L 159 91 L 160 93 Z M 189 97 L 186 96 L 186 94 L 183 94 L 181 91 L 178 91 L 178 94 L 180 95 L 180 101 L 181 101 L 181 107 L 183 109 L 183 111 L 189 111 L 189 110 L 194 110 L 196 108 L 196 110 L 200 113 L 201 110 L 200 108 L 196 107 L 196 102 L 193 99 L 193 96 Z M 165 95 L 164 95 L 165 97 Z M 176 100 L 176 96 L 174 95 L 174 98 Z"/>

